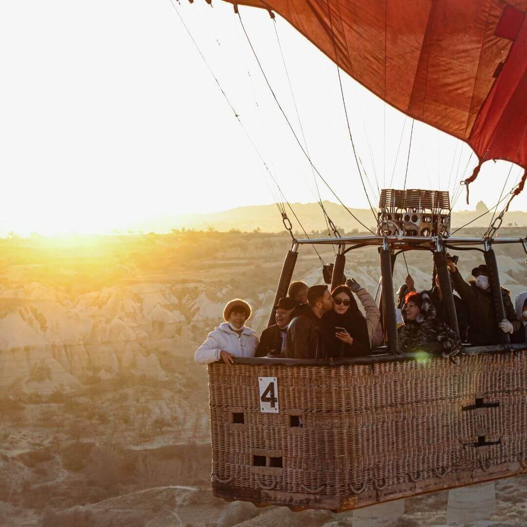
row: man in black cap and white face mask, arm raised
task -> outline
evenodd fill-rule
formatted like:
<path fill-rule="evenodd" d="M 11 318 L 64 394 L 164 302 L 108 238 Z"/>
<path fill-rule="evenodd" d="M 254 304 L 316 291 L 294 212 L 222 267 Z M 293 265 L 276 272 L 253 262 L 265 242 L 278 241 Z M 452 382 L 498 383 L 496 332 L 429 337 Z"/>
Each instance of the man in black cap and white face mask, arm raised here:
<path fill-rule="evenodd" d="M 463 280 L 452 259 L 447 258 L 448 270 L 452 274 L 454 289 L 463 300 L 469 319 L 468 341 L 475 345 L 498 344 L 497 331 L 512 334 L 520 327 L 520 320 L 512 305 L 510 292 L 501 288 L 505 320 L 496 320 L 496 310 L 492 300 L 489 270 L 485 264 L 472 269 L 469 284 Z"/>

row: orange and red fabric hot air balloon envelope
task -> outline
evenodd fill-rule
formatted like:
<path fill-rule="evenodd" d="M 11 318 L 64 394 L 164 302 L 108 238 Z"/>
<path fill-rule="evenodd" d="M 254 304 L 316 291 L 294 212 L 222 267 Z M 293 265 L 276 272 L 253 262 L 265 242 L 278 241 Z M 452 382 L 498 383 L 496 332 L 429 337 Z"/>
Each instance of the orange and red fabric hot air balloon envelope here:
<path fill-rule="evenodd" d="M 489 159 L 527 166 L 527 0 L 226 1 L 280 14 L 383 101 L 466 141 L 480 161 L 466 183 Z"/>

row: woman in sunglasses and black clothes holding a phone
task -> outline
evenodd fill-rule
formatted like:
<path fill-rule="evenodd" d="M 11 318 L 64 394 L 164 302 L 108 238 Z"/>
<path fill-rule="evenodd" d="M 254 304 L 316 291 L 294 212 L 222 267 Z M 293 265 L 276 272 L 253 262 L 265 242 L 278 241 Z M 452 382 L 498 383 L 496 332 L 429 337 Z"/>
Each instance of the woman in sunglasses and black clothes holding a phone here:
<path fill-rule="evenodd" d="M 333 310 L 322 321 L 330 344 L 330 356 L 356 357 L 370 352 L 368 326 L 360 313 L 352 290 L 338 286 L 331 293 Z"/>

